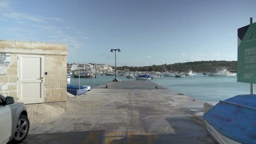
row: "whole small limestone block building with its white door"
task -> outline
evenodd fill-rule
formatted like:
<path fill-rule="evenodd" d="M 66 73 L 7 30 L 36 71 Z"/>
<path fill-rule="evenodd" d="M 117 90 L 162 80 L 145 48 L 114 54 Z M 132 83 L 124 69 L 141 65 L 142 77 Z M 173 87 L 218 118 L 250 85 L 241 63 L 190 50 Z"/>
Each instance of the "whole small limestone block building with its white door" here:
<path fill-rule="evenodd" d="M 0 40 L 0 94 L 25 104 L 66 101 L 67 45 Z"/>

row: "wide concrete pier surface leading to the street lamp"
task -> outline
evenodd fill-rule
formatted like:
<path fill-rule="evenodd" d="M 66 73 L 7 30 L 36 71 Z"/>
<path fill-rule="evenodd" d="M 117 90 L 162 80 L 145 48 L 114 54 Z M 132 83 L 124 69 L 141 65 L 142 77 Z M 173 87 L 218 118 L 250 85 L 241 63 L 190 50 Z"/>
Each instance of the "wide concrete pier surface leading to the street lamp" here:
<path fill-rule="evenodd" d="M 149 81 L 106 85 L 66 102 L 28 105 L 31 130 L 22 143 L 214 143 L 200 101 Z"/>

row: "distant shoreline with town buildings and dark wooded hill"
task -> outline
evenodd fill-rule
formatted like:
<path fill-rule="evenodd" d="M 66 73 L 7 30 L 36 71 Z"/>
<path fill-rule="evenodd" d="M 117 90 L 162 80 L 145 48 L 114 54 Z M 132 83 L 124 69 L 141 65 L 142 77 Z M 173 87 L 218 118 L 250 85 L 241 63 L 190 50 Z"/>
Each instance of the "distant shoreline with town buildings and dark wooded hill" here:
<path fill-rule="evenodd" d="M 195 72 L 212 72 L 218 67 L 225 67 L 228 70 L 236 71 L 236 61 L 197 61 L 197 62 L 185 62 L 174 64 L 162 64 L 162 65 L 150 65 L 143 67 L 129 67 L 121 66 L 117 67 L 118 71 L 130 72 L 130 71 L 188 71 L 193 70 Z M 110 73 L 115 70 L 115 67 L 108 64 L 95 64 L 95 63 L 67 63 L 67 72 L 72 71 L 90 71 L 91 73 Z"/>

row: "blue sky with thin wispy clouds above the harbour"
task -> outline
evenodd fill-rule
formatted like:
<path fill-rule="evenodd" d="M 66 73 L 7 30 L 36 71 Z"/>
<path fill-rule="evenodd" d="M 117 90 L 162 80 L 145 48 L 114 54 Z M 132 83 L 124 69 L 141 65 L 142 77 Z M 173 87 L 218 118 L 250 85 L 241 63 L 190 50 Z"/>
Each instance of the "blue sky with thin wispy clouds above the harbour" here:
<path fill-rule="evenodd" d="M 237 59 L 256 1 L 0 0 L 0 39 L 67 44 L 69 63 L 142 66 Z"/>

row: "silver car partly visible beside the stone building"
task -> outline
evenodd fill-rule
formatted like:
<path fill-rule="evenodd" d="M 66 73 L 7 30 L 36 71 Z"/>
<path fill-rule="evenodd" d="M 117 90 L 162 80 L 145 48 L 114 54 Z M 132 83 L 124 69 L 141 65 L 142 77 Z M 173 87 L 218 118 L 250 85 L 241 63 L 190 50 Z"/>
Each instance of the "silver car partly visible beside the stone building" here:
<path fill-rule="evenodd" d="M 0 144 L 23 141 L 30 129 L 24 103 L 14 103 L 13 97 L 0 94 Z"/>

